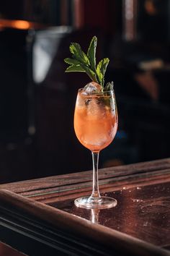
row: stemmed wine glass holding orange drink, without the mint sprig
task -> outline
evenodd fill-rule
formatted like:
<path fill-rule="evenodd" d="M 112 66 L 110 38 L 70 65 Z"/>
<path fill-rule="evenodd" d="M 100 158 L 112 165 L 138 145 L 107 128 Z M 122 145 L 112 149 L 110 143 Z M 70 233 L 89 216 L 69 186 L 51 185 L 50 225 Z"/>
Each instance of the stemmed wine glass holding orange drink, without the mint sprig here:
<path fill-rule="evenodd" d="M 76 137 L 91 150 L 93 161 L 93 189 L 89 197 L 79 197 L 74 203 L 80 208 L 104 209 L 117 205 L 117 200 L 99 193 L 99 152 L 106 148 L 117 132 L 117 105 L 114 90 L 102 93 L 86 93 L 79 89 L 74 111 Z"/>

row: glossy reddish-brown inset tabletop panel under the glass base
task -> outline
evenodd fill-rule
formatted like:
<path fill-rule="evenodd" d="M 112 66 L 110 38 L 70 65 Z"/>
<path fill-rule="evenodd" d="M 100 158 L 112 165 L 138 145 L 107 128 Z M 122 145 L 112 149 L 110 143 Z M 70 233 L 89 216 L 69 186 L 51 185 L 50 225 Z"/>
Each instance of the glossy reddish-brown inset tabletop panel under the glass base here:
<path fill-rule="evenodd" d="M 104 195 L 115 197 L 117 206 L 94 213 L 76 208 L 73 200 L 50 205 L 151 244 L 162 247 L 170 244 L 170 182 L 146 187 L 124 187 Z"/>

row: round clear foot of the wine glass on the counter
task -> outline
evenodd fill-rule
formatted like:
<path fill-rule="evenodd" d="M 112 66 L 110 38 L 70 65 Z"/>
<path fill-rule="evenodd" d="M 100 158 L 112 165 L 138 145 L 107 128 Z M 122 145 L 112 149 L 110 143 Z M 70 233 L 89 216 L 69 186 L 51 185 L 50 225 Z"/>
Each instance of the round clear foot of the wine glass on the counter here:
<path fill-rule="evenodd" d="M 107 209 L 117 205 L 117 200 L 112 197 L 100 197 L 91 199 L 91 197 L 79 197 L 74 200 L 74 204 L 79 208 L 86 209 Z"/>

